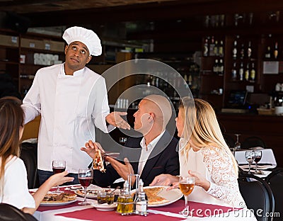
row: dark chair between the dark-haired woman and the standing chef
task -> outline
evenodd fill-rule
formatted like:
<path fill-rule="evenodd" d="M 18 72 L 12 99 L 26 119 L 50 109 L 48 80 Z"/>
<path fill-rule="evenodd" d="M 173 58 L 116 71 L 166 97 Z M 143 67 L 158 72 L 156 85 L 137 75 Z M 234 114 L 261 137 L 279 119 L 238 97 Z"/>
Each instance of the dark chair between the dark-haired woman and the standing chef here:
<path fill-rule="evenodd" d="M 23 159 L 28 174 L 28 188 L 38 188 L 37 145 L 29 142 L 21 144 L 20 158 Z"/>

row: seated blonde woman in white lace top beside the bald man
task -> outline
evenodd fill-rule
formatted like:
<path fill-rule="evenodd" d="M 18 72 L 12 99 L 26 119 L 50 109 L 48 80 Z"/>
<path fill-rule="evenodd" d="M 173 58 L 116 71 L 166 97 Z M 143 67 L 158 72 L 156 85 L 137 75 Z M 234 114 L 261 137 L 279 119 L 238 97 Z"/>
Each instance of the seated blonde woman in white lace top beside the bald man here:
<path fill-rule="evenodd" d="M 233 208 L 246 208 L 238 188 L 238 166 L 216 120 L 212 106 L 185 97 L 175 119 L 178 130 L 180 175 L 195 176 L 195 189 L 188 200 Z M 178 177 L 156 176 L 150 186 L 178 187 Z"/>

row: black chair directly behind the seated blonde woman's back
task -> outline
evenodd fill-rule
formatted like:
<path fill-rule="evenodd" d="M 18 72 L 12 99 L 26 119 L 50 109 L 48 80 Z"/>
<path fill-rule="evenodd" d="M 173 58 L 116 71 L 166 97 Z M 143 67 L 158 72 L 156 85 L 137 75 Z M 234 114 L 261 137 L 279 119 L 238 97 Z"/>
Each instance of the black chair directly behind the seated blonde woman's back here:
<path fill-rule="evenodd" d="M 258 221 L 272 221 L 275 211 L 275 200 L 268 183 L 253 174 L 241 174 L 238 185 L 247 207 L 253 210 Z"/>

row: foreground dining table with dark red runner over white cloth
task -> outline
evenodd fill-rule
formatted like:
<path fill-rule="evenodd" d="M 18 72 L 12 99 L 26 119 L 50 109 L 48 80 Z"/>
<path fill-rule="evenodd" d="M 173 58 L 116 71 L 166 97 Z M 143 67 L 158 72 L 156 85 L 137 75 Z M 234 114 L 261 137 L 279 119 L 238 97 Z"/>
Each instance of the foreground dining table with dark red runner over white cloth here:
<path fill-rule="evenodd" d="M 71 186 L 61 186 L 60 190 L 64 192 L 71 191 Z M 30 190 L 30 192 L 35 191 L 35 189 Z M 52 191 L 52 190 L 51 190 Z M 74 192 L 73 192 L 74 193 Z M 91 205 L 79 205 L 78 203 L 82 201 L 81 196 L 76 197 L 76 201 L 69 203 L 67 205 L 48 205 L 42 206 L 34 213 L 35 218 L 39 221 L 79 221 L 79 220 L 163 220 L 163 221 L 175 221 L 175 220 L 253 220 L 255 217 L 251 210 L 246 208 L 230 208 L 222 205 L 212 205 L 200 202 L 188 202 L 190 215 L 184 217 L 180 215 L 179 212 L 183 210 L 185 201 L 182 199 L 176 200 L 173 203 L 163 206 L 148 207 L 148 214 L 144 215 L 121 215 L 116 212 L 115 209 L 109 211 L 97 210 L 93 207 L 96 204 L 96 199 L 88 198 L 87 201 Z"/>

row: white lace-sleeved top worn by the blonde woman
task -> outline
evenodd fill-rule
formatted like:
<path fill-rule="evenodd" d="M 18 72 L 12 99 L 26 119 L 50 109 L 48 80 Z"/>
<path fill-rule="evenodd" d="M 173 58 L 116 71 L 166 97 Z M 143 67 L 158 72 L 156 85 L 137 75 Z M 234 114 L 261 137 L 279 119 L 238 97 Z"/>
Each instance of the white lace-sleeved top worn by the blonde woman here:
<path fill-rule="evenodd" d="M 211 146 L 203 147 L 197 152 L 191 148 L 187 154 L 179 152 L 179 159 L 180 175 L 187 175 L 187 171 L 190 169 L 199 172 L 210 182 L 208 191 L 200 186 L 195 186 L 188 200 L 226 205 L 233 208 L 246 208 L 229 154 L 222 153 L 216 147 Z"/>

